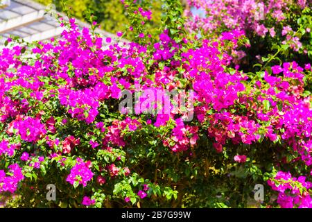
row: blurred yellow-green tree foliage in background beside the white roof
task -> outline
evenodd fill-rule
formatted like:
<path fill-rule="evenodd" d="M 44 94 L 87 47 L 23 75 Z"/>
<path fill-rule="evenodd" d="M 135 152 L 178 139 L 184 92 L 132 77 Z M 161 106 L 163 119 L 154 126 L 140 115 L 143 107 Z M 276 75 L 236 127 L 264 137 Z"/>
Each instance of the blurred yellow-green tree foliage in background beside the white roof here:
<path fill-rule="evenodd" d="M 120 0 L 35 0 L 45 6 L 53 3 L 55 9 L 60 12 L 67 12 L 72 17 L 82 20 L 83 22 L 90 22 L 90 15 L 93 15 L 93 20 L 98 22 L 100 28 L 103 30 L 116 33 L 118 31 L 125 32 L 130 26 L 128 12 Z M 162 1 L 138 1 L 145 9 L 150 9 L 152 19 L 148 22 L 148 30 L 150 34 L 158 33 L 161 16 L 162 16 Z M 132 40 L 133 36 L 128 35 Z"/>

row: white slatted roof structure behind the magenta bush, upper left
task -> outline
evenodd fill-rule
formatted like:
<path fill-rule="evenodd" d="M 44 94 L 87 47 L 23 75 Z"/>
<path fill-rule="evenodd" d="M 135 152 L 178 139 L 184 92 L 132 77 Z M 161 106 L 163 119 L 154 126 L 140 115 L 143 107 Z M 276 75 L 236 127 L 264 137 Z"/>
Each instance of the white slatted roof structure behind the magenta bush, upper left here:
<path fill-rule="evenodd" d="M 17 35 L 26 42 L 59 37 L 64 28 L 60 27 L 55 17 L 46 14 L 46 8 L 46 6 L 30 0 L 0 0 L 0 45 L 10 35 Z M 65 15 L 62 16 L 64 19 L 66 18 Z M 89 27 L 89 24 L 80 22 L 78 19 L 76 19 L 76 23 L 80 28 Z M 115 42 L 115 35 L 99 28 L 96 29 L 96 32 L 100 33 L 104 40 L 105 37 L 111 37 L 112 42 Z"/>

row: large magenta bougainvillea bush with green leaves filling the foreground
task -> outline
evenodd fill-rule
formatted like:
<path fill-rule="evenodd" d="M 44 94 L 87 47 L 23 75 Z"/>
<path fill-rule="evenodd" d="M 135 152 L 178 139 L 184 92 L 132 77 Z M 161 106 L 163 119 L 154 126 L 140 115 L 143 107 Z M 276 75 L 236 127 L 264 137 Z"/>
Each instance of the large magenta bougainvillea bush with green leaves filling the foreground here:
<path fill-rule="evenodd" d="M 202 23 L 180 1 L 163 1 L 157 38 L 148 3 L 122 2 L 135 42 L 59 16 L 58 40 L 12 38 L 1 48 L 0 193 L 14 195 L 6 206 L 312 207 L 309 1 L 191 1 L 212 9 Z M 268 14 L 257 24 L 254 2 Z M 290 15 L 301 20 L 287 26 Z M 241 68 L 259 41 L 267 53 Z M 173 98 L 167 114 L 120 110 L 125 89 L 193 92 L 193 118 L 184 121 Z"/>

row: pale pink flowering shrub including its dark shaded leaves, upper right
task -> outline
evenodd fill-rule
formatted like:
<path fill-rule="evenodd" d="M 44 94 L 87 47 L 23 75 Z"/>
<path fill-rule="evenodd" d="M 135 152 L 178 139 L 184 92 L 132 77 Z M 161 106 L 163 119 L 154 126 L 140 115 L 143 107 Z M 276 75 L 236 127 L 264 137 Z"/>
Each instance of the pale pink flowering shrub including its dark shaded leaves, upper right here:
<path fill-rule="evenodd" d="M 250 0 L 250 1 L 196 1 L 188 0 L 205 15 L 193 15 L 189 10 L 189 31 L 200 32 L 202 37 L 220 35 L 238 28 L 250 38 L 251 47 L 234 51 L 236 63 L 244 71 L 263 62 L 261 57 L 274 54 L 276 45 L 283 44 L 285 62 L 297 61 L 304 65 L 311 60 L 311 1 Z"/>

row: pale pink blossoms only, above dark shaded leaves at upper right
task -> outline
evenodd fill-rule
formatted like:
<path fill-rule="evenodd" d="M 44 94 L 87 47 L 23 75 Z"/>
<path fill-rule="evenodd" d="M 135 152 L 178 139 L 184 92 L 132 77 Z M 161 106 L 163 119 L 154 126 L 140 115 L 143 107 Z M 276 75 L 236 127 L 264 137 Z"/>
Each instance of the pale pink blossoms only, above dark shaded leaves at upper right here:
<path fill-rule="evenodd" d="M 200 9 L 201 15 L 193 14 L 192 10 L 186 10 L 184 13 L 189 16 L 187 27 L 189 31 L 202 30 L 206 33 L 216 34 L 219 28 L 248 31 L 261 37 L 277 37 L 277 34 L 284 37 L 282 44 L 289 44 L 291 49 L 299 51 L 302 49 L 307 53 L 306 47 L 303 47 L 299 37 L 294 35 L 294 31 L 288 23 L 288 11 L 291 8 L 303 10 L 311 8 L 311 1 L 202 1 L 188 0 L 189 6 Z M 274 21 L 274 22 L 269 22 Z M 281 27 L 279 25 L 281 24 Z M 311 30 L 307 27 L 306 32 Z"/>

